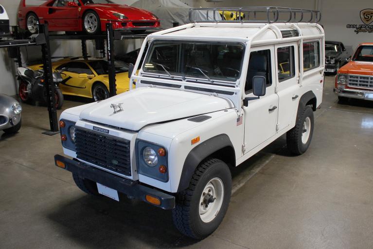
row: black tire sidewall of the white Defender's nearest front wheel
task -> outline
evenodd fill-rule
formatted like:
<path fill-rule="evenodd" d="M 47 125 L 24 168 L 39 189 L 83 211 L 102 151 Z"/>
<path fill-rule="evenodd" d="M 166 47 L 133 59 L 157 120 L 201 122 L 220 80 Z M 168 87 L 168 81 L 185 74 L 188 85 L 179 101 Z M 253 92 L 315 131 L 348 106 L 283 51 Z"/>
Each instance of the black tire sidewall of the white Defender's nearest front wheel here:
<path fill-rule="evenodd" d="M 213 178 L 218 177 L 224 184 L 224 199 L 217 216 L 209 223 L 204 223 L 199 216 L 199 201 L 206 184 Z M 194 195 L 191 200 L 192 226 L 197 237 L 203 238 L 211 234 L 222 222 L 231 200 L 231 172 L 228 166 L 222 162 L 215 162 L 209 167 L 196 184 Z"/>

